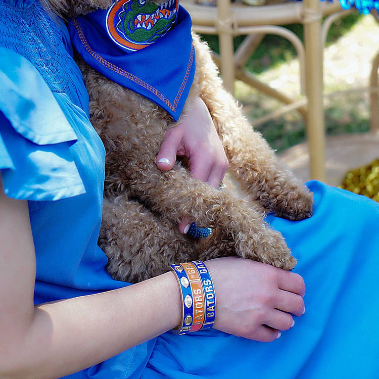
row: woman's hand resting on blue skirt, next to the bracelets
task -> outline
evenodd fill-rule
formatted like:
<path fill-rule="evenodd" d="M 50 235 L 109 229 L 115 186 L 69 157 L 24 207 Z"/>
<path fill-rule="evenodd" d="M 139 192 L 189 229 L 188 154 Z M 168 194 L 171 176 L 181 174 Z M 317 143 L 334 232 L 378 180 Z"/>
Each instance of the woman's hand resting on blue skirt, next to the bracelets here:
<path fill-rule="evenodd" d="M 206 262 L 216 293 L 214 327 L 250 340 L 270 342 L 305 312 L 303 278 L 268 264 L 227 257 Z"/>

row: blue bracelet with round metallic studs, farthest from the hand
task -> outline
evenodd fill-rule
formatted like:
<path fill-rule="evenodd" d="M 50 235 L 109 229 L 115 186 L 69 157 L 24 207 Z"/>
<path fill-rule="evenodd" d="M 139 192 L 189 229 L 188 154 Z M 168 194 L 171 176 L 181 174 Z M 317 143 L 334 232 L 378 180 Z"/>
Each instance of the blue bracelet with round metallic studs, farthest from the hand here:
<path fill-rule="evenodd" d="M 172 329 L 173 333 L 181 335 L 185 334 L 192 328 L 194 320 L 194 300 L 192 289 L 189 285 L 187 274 L 182 266 L 173 264 L 169 266 L 170 270 L 175 274 L 176 280 L 180 288 L 180 297 L 182 303 L 181 322 Z"/>

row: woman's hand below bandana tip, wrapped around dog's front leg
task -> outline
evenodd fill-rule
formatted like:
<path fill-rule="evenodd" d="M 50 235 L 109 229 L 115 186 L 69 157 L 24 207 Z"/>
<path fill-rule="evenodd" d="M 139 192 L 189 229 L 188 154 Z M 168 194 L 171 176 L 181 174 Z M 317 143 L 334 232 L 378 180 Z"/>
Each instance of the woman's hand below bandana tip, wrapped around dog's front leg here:
<path fill-rule="evenodd" d="M 168 129 L 156 163 L 162 171 L 171 170 L 176 156 L 189 160 L 191 175 L 218 188 L 228 167 L 224 148 L 218 137 L 208 108 L 196 98 L 178 124 Z M 188 223 L 183 220 L 180 232 L 186 232 Z"/>

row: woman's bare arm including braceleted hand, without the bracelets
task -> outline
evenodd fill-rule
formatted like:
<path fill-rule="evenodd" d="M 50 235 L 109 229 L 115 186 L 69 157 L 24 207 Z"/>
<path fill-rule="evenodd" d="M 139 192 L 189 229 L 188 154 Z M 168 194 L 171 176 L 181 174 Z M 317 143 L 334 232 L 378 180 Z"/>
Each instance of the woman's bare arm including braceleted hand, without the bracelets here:
<path fill-rule="evenodd" d="M 219 330 L 272 341 L 278 329 L 292 325 L 286 312 L 303 313 L 305 287 L 297 274 L 239 258 L 215 259 L 207 266 Z M 171 272 L 123 289 L 38 306 L 33 305 L 34 281 L 27 202 L 7 198 L 0 186 L 0 377 L 5 379 L 67 375 L 180 322 L 179 289 Z"/>

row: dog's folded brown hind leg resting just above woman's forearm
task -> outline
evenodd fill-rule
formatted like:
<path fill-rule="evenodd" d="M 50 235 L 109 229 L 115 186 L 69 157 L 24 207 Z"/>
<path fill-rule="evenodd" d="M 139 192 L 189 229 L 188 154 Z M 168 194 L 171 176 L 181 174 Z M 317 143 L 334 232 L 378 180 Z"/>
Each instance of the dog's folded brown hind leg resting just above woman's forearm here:
<path fill-rule="evenodd" d="M 99 246 L 109 259 L 108 272 L 132 283 L 162 274 L 170 264 L 197 259 L 196 241 L 125 196 L 104 199 Z"/>

